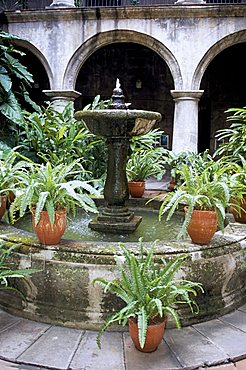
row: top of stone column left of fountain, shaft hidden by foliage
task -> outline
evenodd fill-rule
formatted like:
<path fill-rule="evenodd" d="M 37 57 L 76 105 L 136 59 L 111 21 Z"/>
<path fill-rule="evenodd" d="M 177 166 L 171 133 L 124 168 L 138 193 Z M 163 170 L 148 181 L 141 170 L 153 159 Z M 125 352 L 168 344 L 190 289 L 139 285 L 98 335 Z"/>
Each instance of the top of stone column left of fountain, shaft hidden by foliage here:
<path fill-rule="evenodd" d="M 69 102 L 73 102 L 81 95 L 75 90 L 43 90 L 43 92 L 50 98 L 53 107 L 59 112 L 62 112 Z"/>

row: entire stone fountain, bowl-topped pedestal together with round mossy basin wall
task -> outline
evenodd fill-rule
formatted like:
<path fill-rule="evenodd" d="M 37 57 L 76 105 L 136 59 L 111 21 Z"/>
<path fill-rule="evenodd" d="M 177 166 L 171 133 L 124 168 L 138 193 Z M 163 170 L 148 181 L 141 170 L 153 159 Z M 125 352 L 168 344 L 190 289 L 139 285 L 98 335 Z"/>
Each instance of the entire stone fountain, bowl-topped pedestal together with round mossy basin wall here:
<path fill-rule="evenodd" d="M 97 220 L 91 221 L 90 227 L 120 234 L 130 233 L 140 222 L 126 207 L 128 187 L 125 167 L 129 139 L 148 132 L 161 116 L 155 112 L 127 109 L 119 81 L 112 100 L 109 109 L 77 112 L 76 118 L 84 120 L 91 132 L 105 137 L 109 151 L 104 189 L 107 207 Z M 158 203 L 158 200 L 148 207 L 153 207 L 155 202 Z M 156 204 L 156 210 L 159 205 Z M 145 208 L 146 205 L 142 211 Z M 157 234 L 155 258 L 169 260 L 186 254 L 188 258 L 182 271 L 183 278 L 201 282 L 205 290 L 204 295 L 197 297 L 198 314 L 181 310 L 182 325 L 219 317 L 245 303 L 245 227 L 245 224 L 231 221 L 224 234 L 220 231 L 215 233 L 209 245 L 195 245 L 189 239 L 166 240 Z M 98 276 L 107 279 L 117 276 L 115 255 L 119 254 L 117 244 L 122 239 L 121 235 L 111 234 L 117 238 L 117 243 L 105 242 L 102 233 L 93 232 L 97 234 L 94 241 L 63 238 L 59 245 L 49 246 L 40 245 L 32 232 L 0 222 L 1 241 L 16 248 L 13 256 L 16 267 L 40 270 L 16 282 L 26 297 L 25 301 L 20 295 L 2 290 L 0 307 L 35 321 L 98 329 L 105 317 L 121 307 L 121 302 L 101 287 L 94 286 L 93 280 Z M 146 248 L 151 245 L 145 240 L 143 243 Z M 128 241 L 127 245 L 132 251 L 139 248 L 134 241 Z"/>

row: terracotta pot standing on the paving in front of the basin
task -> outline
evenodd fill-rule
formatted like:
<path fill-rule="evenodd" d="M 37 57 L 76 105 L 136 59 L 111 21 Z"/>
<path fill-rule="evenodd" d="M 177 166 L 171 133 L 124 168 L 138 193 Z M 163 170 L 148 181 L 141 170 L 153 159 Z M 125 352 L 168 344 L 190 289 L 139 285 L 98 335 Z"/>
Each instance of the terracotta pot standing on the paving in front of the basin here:
<path fill-rule="evenodd" d="M 135 344 L 135 347 L 141 352 L 154 352 L 162 341 L 166 327 L 166 321 L 166 318 L 164 318 L 164 320 L 159 319 L 157 323 L 148 325 L 145 345 L 143 348 L 141 348 L 138 340 L 137 321 L 135 318 L 130 318 L 128 320 L 129 334 L 133 343 Z"/>

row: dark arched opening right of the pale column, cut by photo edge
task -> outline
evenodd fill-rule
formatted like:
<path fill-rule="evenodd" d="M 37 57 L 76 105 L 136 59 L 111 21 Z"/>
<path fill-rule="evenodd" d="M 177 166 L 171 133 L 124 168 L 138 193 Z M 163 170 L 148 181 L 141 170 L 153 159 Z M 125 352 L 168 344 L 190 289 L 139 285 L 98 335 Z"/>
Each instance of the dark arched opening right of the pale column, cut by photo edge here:
<path fill-rule="evenodd" d="M 204 94 L 199 105 L 198 150 L 213 153 L 218 143 L 218 129 L 228 126 L 225 110 L 243 107 L 245 102 L 246 42 L 228 47 L 218 54 L 206 69 L 201 81 Z"/>

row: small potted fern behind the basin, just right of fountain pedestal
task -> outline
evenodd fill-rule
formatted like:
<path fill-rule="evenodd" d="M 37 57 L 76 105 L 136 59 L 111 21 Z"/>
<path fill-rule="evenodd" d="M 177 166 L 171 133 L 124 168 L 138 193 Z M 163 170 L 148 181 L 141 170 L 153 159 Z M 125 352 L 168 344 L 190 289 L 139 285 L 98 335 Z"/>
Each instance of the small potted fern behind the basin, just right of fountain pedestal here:
<path fill-rule="evenodd" d="M 162 160 L 163 149 L 134 151 L 127 162 L 126 173 L 128 177 L 128 188 L 130 195 L 141 198 L 145 191 L 145 180 L 148 177 L 156 177 L 161 180 L 165 167 Z"/>

